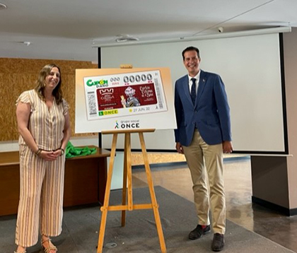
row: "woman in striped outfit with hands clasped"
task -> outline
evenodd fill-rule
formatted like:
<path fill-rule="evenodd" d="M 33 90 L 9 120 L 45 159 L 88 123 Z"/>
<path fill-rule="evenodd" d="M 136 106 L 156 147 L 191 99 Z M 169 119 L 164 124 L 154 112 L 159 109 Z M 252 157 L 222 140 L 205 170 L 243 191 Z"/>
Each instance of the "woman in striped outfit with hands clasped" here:
<path fill-rule="evenodd" d="M 16 101 L 21 192 L 15 253 L 35 245 L 39 229 L 45 253 L 56 253 L 50 236 L 62 232 L 64 150 L 71 129 L 59 67 L 44 66 L 36 83 L 34 90 L 23 92 Z"/>

